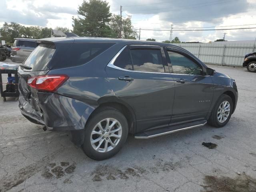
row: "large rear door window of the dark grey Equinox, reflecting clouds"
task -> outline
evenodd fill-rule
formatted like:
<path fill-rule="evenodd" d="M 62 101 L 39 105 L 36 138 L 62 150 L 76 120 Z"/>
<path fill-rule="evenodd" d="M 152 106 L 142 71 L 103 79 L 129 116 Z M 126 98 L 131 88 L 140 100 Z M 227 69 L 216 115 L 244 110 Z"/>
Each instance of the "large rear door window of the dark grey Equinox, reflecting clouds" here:
<path fill-rule="evenodd" d="M 162 54 L 156 49 L 132 49 L 130 50 L 134 71 L 162 72 L 164 66 Z"/>

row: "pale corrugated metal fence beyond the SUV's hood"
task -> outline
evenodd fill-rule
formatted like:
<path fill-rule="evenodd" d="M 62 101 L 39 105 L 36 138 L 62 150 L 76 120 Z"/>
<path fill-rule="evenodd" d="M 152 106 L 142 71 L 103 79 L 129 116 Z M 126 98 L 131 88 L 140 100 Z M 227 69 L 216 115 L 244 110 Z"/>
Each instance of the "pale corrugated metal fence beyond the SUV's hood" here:
<path fill-rule="evenodd" d="M 204 63 L 226 66 L 242 66 L 244 56 L 256 51 L 255 41 L 181 43 L 175 45 L 188 50 Z"/>

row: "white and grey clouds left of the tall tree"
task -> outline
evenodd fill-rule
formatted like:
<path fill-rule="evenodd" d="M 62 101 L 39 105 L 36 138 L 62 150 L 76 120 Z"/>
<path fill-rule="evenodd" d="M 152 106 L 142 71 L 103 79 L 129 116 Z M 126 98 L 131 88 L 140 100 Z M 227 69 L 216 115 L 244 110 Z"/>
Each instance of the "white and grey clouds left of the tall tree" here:
<path fill-rule="evenodd" d="M 8 0 L 8 3 L 3 1 L 1 3 L 0 22 L 17 22 L 36 26 L 48 26 L 49 21 L 58 23 L 58 20 L 66 21 L 66 18 L 68 18 L 69 22 L 72 22 L 71 18 L 73 15 L 76 15 L 76 8 L 73 6 L 63 6 L 63 3 L 60 5 L 54 5 L 51 1 L 38 0 Z M 59 23 L 65 25 L 63 21 Z M 71 23 L 68 27 L 70 26 Z"/>

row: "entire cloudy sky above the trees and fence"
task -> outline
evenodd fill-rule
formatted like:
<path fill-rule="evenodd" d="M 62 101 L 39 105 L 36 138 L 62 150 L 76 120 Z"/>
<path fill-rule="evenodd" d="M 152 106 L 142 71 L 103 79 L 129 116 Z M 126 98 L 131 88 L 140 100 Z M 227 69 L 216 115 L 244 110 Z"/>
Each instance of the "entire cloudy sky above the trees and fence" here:
<path fill-rule="evenodd" d="M 106 0 L 110 12 L 132 16 L 134 28 L 166 29 L 141 30 L 140 39 L 157 41 L 178 36 L 184 42 L 225 40 L 255 40 L 256 29 L 216 31 L 175 31 L 188 29 L 256 28 L 256 0 Z M 0 0 L 0 26 L 4 22 L 22 25 L 68 27 L 72 30 L 72 16 L 77 17 L 83 0 Z M 228 26 L 228 27 L 221 27 Z M 204 27 L 204 28 L 202 28 Z M 186 29 L 185 29 L 186 28 Z"/>

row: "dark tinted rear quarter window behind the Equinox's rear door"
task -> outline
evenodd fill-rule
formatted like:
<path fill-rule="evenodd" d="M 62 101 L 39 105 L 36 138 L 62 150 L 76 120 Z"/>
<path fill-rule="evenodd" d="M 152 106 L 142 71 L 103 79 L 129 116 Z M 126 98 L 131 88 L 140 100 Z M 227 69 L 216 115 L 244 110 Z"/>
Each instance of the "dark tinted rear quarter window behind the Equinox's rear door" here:
<path fill-rule="evenodd" d="M 85 64 L 110 48 L 115 43 L 74 43 L 69 48 L 65 44 L 56 44 L 54 62 L 49 69 L 65 68 Z"/>

